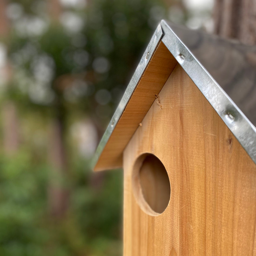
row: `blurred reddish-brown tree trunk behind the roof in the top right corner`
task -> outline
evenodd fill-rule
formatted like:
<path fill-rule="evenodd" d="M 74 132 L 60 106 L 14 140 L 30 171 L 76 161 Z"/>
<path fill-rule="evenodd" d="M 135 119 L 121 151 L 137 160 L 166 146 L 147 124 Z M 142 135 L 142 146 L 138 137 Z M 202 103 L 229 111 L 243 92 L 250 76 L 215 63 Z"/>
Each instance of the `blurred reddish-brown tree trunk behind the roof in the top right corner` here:
<path fill-rule="evenodd" d="M 256 0 L 215 0 L 215 33 L 256 44 Z"/>

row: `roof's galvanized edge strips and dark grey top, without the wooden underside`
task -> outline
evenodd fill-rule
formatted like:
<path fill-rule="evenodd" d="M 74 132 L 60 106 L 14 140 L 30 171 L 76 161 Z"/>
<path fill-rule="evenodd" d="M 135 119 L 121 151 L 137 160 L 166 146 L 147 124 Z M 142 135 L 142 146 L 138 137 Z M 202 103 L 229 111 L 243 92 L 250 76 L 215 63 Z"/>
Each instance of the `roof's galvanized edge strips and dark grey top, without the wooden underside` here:
<path fill-rule="evenodd" d="M 256 105 L 256 47 L 243 46 L 177 25 L 171 26 L 173 28 L 164 20 L 157 26 L 100 141 L 93 165 L 97 163 L 160 40 L 256 164 L 256 128 L 223 90 L 226 89 L 236 99 L 239 107 L 255 124 L 256 111 L 252 110 Z"/>

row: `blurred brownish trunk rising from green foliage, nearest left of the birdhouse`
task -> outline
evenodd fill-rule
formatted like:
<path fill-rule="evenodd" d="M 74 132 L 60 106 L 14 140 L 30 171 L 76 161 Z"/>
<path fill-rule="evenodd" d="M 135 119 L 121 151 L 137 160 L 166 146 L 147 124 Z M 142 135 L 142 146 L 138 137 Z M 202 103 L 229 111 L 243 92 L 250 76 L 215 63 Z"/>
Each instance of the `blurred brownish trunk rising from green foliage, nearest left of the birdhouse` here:
<path fill-rule="evenodd" d="M 67 165 L 62 120 L 53 119 L 49 130 L 49 162 L 53 169 L 48 190 L 49 210 L 51 215 L 61 217 L 68 207 Z"/>

